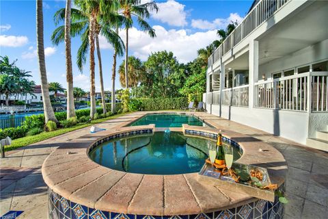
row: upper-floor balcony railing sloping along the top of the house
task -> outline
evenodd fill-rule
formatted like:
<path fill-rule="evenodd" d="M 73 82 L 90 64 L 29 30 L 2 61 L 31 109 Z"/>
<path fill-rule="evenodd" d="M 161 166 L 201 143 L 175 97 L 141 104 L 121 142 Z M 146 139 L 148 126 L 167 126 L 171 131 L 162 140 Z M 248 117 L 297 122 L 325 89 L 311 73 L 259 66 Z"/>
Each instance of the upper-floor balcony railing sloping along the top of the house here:
<path fill-rule="evenodd" d="M 254 29 L 267 21 L 279 8 L 290 0 L 261 0 L 245 16 L 244 20 L 232 31 L 232 33 L 217 47 L 208 57 L 208 68 L 228 53 L 236 44 L 247 37 Z"/>

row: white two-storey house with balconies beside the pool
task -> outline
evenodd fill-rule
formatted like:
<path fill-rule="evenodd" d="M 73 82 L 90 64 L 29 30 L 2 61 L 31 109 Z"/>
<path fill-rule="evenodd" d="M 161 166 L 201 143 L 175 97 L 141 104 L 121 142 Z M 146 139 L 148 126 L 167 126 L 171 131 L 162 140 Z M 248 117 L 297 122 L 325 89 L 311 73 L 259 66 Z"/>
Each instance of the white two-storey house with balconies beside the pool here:
<path fill-rule="evenodd" d="M 258 1 L 208 58 L 206 111 L 328 151 L 328 3 Z"/>

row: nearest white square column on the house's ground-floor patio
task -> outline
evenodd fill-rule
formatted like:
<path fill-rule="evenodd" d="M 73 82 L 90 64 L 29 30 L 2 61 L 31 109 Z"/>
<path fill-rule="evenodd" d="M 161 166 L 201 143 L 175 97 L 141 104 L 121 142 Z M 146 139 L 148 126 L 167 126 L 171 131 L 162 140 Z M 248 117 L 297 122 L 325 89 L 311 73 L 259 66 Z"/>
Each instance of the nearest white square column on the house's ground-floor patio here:
<path fill-rule="evenodd" d="M 253 108 L 255 105 L 256 91 L 254 83 L 256 82 L 258 82 L 258 41 L 251 40 L 249 42 L 249 108 Z"/>

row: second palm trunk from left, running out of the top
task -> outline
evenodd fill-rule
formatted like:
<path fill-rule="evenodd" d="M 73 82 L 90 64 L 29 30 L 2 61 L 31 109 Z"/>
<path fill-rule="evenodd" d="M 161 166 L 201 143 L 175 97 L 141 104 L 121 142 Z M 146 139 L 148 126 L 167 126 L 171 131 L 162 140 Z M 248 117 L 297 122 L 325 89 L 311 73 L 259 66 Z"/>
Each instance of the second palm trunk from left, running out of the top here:
<path fill-rule="evenodd" d="M 65 55 L 66 55 L 66 81 L 67 81 L 67 118 L 75 116 L 74 94 L 73 94 L 73 70 L 72 54 L 70 44 L 70 8 L 71 0 L 66 0 L 65 10 Z"/>

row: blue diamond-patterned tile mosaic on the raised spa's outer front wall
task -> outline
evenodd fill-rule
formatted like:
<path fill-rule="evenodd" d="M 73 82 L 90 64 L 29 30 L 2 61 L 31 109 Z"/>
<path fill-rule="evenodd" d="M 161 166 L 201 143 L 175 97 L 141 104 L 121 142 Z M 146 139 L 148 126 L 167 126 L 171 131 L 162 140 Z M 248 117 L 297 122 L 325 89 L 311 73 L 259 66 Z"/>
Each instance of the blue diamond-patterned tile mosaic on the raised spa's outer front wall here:
<path fill-rule="evenodd" d="M 279 189 L 281 190 L 281 188 L 284 188 L 284 184 Z M 284 205 L 279 203 L 277 198 L 275 198 L 275 202 L 273 203 L 265 200 L 258 200 L 236 208 L 224 209 L 222 211 L 215 211 L 206 214 L 150 216 L 100 211 L 98 209 L 79 205 L 79 203 L 73 203 L 64 197 L 59 196 L 50 189 L 48 194 L 50 219 L 282 219 L 284 215 Z M 5 218 L 2 216 L 0 219 Z"/>

